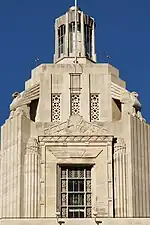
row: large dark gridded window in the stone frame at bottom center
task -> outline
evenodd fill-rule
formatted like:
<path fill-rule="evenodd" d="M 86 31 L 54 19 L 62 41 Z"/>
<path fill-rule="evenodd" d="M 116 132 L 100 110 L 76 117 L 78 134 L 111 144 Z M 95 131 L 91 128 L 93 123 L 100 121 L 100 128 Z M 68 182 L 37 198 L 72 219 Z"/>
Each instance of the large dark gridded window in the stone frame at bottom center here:
<path fill-rule="evenodd" d="M 91 217 L 91 167 L 61 166 L 61 217 Z"/>

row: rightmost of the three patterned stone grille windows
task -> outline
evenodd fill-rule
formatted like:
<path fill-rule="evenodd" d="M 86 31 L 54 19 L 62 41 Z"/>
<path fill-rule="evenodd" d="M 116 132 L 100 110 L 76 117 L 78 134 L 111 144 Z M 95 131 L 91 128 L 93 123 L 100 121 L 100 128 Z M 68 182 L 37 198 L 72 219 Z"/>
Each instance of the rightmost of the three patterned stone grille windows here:
<path fill-rule="evenodd" d="M 90 94 L 90 117 L 91 122 L 99 121 L 100 119 L 100 102 L 99 94 Z"/>

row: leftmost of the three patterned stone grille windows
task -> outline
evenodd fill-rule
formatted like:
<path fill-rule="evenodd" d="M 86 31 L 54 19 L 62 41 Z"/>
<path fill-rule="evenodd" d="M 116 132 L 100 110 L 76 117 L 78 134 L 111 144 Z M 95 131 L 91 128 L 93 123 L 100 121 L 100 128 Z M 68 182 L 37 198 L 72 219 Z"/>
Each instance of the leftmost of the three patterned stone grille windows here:
<path fill-rule="evenodd" d="M 60 94 L 52 94 L 52 121 L 60 121 Z"/>

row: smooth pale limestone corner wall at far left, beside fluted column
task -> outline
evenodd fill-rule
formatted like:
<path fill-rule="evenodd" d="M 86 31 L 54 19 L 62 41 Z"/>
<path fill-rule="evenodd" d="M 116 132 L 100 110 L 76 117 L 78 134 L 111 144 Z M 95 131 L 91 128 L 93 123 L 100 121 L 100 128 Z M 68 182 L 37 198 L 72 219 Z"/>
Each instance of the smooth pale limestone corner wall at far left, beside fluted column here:
<path fill-rule="evenodd" d="M 1 128 L 1 217 L 20 217 L 23 197 L 23 160 L 30 135 L 29 120 L 17 114 Z"/>

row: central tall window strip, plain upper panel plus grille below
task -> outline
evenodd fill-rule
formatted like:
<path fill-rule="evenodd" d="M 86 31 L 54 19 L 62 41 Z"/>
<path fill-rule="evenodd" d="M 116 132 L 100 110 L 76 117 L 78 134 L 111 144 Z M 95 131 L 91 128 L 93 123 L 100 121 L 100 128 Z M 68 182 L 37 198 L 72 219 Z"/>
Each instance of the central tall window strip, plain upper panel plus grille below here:
<path fill-rule="evenodd" d="M 80 75 L 70 74 L 70 114 L 80 114 Z"/>

